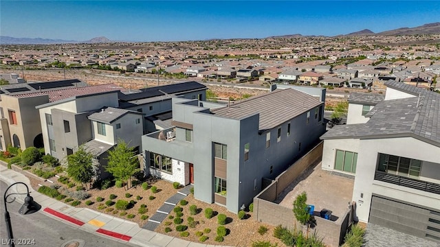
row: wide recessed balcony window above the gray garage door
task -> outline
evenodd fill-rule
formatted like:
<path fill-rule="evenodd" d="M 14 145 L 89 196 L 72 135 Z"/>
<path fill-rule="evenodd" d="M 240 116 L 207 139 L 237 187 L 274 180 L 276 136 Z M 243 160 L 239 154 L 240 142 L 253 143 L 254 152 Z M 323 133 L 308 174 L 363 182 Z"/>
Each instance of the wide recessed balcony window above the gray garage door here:
<path fill-rule="evenodd" d="M 380 172 L 417 179 L 420 176 L 421 161 L 414 158 L 400 157 L 391 154 L 379 154 L 377 170 Z"/>

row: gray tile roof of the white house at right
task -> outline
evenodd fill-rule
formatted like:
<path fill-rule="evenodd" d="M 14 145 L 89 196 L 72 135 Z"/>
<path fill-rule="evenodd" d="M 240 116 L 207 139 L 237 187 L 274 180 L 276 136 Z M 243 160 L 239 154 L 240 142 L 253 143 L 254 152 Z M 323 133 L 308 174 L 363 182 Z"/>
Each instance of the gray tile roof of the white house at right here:
<path fill-rule="evenodd" d="M 401 82 L 386 84 L 419 96 L 384 100 L 370 111 L 365 124 L 335 126 L 321 139 L 415 137 L 440 146 L 440 94 Z"/>

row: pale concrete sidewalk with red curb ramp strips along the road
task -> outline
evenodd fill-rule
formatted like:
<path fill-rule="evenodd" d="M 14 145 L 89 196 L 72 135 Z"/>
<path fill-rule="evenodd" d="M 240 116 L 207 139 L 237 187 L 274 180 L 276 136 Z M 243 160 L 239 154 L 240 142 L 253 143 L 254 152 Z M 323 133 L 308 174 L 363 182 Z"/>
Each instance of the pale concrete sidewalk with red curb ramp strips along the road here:
<path fill-rule="evenodd" d="M 58 220 L 78 228 L 81 231 L 87 231 L 96 235 L 109 237 L 121 243 L 130 246 L 147 246 L 147 247 L 204 247 L 212 246 L 189 242 L 184 239 L 170 237 L 153 231 L 140 228 L 134 222 L 122 220 L 98 211 L 85 208 L 72 207 L 69 204 L 55 200 L 34 191 L 30 186 L 29 179 L 19 172 L 8 169 L 4 165 L 0 165 L 0 180 L 8 185 L 12 183 L 23 182 L 28 185 L 31 196 L 34 201 L 41 205 L 40 212 Z M 26 188 L 23 185 L 15 185 L 11 187 L 12 193 L 25 193 Z M 23 196 L 17 196 L 19 202 L 23 202 Z"/>

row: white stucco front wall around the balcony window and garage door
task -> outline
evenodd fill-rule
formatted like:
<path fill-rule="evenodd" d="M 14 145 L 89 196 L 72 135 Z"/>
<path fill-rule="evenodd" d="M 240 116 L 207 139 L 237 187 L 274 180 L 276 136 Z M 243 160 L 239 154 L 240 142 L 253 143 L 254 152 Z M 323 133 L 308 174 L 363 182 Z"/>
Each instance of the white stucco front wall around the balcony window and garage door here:
<path fill-rule="evenodd" d="M 438 194 L 374 180 L 378 153 L 415 158 L 438 164 L 440 163 L 440 157 L 438 155 L 440 153 L 439 147 L 412 137 L 401 137 L 361 140 L 359 149 L 362 150 L 362 152 L 358 154 L 353 201 L 358 203 L 357 215 L 360 221 L 368 222 L 369 220 L 372 193 L 414 204 L 422 204 L 426 207 L 440 210 L 440 195 Z M 422 164 L 422 175 L 427 173 L 426 169 L 431 170 L 432 165 L 428 165 L 428 168 L 426 168 Z M 440 170 L 440 168 L 438 170 Z M 432 181 L 432 178 L 426 179 L 421 176 L 420 180 Z M 439 180 L 437 180 L 437 183 L 439 183 Z"/>

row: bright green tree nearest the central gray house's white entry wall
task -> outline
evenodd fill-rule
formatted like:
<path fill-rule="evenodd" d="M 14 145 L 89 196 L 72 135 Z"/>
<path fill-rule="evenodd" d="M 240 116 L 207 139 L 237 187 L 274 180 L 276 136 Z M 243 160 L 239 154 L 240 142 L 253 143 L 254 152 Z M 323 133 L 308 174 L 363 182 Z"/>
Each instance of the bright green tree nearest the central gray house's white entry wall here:
<path fill-rule="evenodd" d="M 115 149 L 109 151 L 109 162 L 105 168 L 117 180 L 126 181 L 126 189 L 129 189 L 131 177 L 139 170 L 139 161 L 135 157 L 133 148 L 130 148 L 125 141 L 118 140 Z"/>

